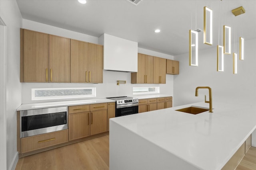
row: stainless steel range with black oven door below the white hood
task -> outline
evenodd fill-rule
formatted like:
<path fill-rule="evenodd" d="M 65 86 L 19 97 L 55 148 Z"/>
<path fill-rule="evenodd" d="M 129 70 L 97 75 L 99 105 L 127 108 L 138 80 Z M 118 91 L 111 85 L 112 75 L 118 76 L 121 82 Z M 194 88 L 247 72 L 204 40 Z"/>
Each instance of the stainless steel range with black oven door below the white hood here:
<path fill-rule="evenodd" d="M 116 101 L 116 117 L 138 113 L 138 98 L 122 96 L 108 99 Z"/>

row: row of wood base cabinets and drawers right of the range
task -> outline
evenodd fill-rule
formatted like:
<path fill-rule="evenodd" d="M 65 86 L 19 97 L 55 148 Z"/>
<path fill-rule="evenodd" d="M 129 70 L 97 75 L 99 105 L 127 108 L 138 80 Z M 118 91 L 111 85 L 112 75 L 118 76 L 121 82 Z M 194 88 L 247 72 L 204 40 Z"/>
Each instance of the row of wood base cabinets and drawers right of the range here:
<path fill-rule="evenodd" d="M 153 111 L 172 107 L 172 96 L 163 98 L 140 99 L 138 112 Z"/>

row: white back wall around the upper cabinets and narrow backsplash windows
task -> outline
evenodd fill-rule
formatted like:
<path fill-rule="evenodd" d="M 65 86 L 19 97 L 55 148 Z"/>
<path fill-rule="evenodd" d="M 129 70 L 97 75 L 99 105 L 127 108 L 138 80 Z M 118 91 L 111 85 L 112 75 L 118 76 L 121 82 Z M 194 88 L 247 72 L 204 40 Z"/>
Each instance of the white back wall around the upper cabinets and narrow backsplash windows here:
<path fill-rule="evenodd" d="M 98 37 L 77 33 L 74 31 L 46 25 L 30 20 L 23 19 L 23 28 L 34 31 L 59 35 L 81 41 L 98 43 Z M 157 57 L 173 59 L 173 56 L 150 51 L 147 49 L 138 48 L 138 53 L 144 53 Z M 160 86 L 160 94 L 173 96 L 173 75 L 166 75 L 166 84 L 131 84 L 131 73 L 129 72 L 103 72 L 103 84 L 87 84 L 87 83 L 22 83 L 22 104 L 35 103 L 35 102 L 51 102 L 57 100 L 31 100 L 31 88 L 69 88 L 69 87 L 96 87 L 96 98 L 116 97 L 116 96 L 133 96 L 132 87 L 138 86 Z M 117 86 L 116 80 L 126 80 L 126 84 Z M 88 98 L 79 98 L 88 99 Z M 66 100 L 79 100 L 79 99 L 66 99 Z M 65 99 L 62 99 L 65 100 Z M 58 100 L 58 101 L 62 101 Z M 174 99 L 175 100 L 175 99 Z"/>

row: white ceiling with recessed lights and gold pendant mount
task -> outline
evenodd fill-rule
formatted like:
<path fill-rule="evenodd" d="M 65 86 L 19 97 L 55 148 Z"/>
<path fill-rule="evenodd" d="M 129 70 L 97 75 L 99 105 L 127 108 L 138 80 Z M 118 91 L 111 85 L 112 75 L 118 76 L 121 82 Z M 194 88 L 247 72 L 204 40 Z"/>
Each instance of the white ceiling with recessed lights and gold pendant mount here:
<path fill-rule="evenodd" d="M 205 45 L 200 33 L 200 50 L 222 45 L 222 25 L 232 27 L 232 42 L 241 35 L 245 42 L 256 38 L 256 0 L 143 0 L 138 6 L 127 0 L 16 1 L 24 19 L 96 37 L 107 33 L 169 55 L 188 53 L 188 31 L 203 30 L 204 6 L 213 10 L 214 39 Z M 235 17 L 231 10 L 240 6 L 246 13 Z"/>

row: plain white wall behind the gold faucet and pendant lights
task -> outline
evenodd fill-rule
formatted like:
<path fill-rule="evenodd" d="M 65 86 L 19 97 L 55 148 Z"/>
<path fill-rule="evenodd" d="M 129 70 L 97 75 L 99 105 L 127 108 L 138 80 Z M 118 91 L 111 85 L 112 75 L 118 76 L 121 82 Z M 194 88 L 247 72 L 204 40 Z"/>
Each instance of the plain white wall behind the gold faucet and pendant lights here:
<path fill-rule="evenodd" d="M 237 43 L 239 46 L 239 42 Z M 233 45 L 232 45 L 233 47 Z M 217 72 L 217 47 L 198 52 L 198 67 L 189 66 L 188 54 L 175 56 L 180 61 L 180 74 L 174 77 L 174 106 L 204 101 L 208 91 L 197 86 L 210 86 L 214 101 L 255 101 L 256 39 L 245 40 L 244 61 L 238 57 L 238 74 L 233 74 L 233 56 L 224 55 L 224 72 Z M 237 51 L 239 53 L 239 50 Z"/>

